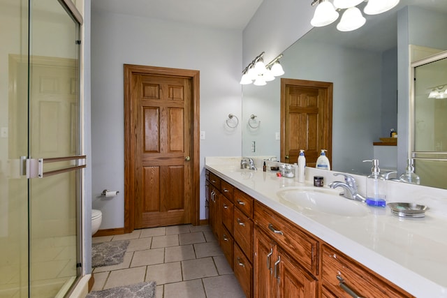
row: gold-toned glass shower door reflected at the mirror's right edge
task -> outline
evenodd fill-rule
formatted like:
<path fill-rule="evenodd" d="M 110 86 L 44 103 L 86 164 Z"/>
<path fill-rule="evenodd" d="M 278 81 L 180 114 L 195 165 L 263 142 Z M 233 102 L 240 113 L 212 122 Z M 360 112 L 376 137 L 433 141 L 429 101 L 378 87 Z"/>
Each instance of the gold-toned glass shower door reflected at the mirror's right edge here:
<path fill-rule="evenodd" d="M 446 188 L 447 52 L 414 68 L 413 158 L 420 183 Z"/>

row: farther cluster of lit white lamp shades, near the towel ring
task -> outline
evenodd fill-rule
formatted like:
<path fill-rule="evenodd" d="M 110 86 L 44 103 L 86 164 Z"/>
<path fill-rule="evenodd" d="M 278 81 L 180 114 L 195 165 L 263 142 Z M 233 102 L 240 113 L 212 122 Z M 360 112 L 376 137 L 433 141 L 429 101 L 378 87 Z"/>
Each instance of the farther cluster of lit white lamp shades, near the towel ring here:
<path fill-rule="evenodd" d="M 242 70 L 242 78 L 240 84 L 247 85 L 253 83 L 256 86 L 263 86 L 274 80 L 274 77 L 284 75 L 284 70 L 279 59 L 283 57 L 283 54 L 279 54 L 278 57 L 270 61 L 268 64 L 264 64 L 263 56 L 265 52 L 259 54 L 250 64 Z"/>

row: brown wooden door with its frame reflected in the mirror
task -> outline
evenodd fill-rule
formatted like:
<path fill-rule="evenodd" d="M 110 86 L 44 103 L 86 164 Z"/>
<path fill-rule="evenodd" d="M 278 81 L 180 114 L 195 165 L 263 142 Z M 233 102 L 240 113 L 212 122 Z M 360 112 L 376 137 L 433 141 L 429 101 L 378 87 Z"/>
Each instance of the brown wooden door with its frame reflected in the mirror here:
<path fill-rule="evenodd" d="M 332 163 L 332 83 L 281 79 L 281 162 L 316 166 L 321 149 Z"/>

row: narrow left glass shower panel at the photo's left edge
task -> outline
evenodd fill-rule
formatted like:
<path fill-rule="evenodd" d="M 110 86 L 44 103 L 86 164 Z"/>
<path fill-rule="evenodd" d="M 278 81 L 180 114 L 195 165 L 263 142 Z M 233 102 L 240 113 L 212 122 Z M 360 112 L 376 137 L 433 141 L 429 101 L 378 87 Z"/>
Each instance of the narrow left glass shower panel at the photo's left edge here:
<path fill-rule="evenodd" d="M 0 0 L 0 297 L 28 297 L 28 1 Z"/>

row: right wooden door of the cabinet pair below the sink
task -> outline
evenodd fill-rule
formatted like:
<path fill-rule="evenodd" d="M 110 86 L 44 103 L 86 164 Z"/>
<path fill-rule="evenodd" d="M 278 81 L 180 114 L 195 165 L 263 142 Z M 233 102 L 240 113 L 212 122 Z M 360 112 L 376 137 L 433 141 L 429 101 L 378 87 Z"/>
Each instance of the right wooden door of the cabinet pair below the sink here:
<path fill-rule="evenodd" d="M 286 253 L 278 250 L 278 258 L 274 271 L 277 270 L 277 297 L 312 298 L 317 297 L 317 283 L 314 276 L 307 273 L 300 265 Z M 273 272 L 275 274 L 275 272 Z"/>

